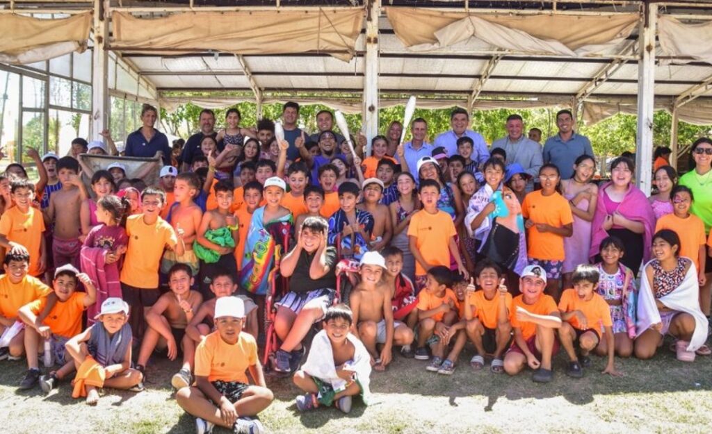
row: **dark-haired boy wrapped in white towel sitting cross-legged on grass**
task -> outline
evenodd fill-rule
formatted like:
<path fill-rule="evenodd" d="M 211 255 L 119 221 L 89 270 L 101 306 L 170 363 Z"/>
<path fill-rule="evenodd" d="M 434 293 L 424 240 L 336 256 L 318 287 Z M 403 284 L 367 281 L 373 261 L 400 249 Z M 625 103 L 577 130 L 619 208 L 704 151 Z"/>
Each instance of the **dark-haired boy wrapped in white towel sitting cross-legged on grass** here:
<path fill-rule="evenodd" d="M 297 397 L 299 411 L 319 406 L 336 406 L 349 413 L 352 396 L 360 395 L 368 404 L 371 356 L 354 334 L 351 310 L 346 305 L 330 307 L 324 329 L 312 342 L 306 363 L 295 372 L 293 381 L 305 395 Z"/>

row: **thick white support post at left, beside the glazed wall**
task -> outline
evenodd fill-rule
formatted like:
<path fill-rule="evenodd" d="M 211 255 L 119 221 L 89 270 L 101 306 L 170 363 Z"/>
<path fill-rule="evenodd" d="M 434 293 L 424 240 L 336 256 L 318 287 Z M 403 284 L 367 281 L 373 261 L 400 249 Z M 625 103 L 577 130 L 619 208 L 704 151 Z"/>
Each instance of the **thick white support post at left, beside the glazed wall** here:
<path fill-rule="evenodd" d="M 91 129 L 89 137 L 97 139 L 107 127 L 109 116 L 109 91 L 108 91 L 108 51 L 104 49 L 108 35 L 108 23 L 105 19 L 105 1 L 94 0 L 94 49 L 92 53 L 92 94 L 91 94 Z"/>

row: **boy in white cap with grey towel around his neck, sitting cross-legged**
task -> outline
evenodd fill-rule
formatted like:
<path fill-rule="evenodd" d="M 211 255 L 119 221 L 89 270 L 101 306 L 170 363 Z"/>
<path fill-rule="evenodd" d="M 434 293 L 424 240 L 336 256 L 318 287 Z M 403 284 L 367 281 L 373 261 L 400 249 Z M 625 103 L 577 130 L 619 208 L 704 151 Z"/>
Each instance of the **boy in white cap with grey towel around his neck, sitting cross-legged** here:
<path fill-rule="evenodd" d="M 131 326 L 129 305 L 117 297 L 101 304 L 98 322 L 66 344 L 77 369 L 72 398 L 86 396 L 86 403 L 99 402 L 97 388 L 143 390 L 143 375 L 131 366 Z"/>

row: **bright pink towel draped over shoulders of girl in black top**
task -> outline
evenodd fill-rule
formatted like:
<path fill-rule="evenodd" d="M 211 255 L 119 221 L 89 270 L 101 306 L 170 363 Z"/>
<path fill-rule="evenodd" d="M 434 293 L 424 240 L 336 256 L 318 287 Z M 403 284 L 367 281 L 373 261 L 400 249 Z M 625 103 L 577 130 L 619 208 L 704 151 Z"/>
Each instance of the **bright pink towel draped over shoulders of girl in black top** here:
<path fill-rule="evenodd" d="M 608 214 L 606 206 L 603 203 L 602 195 L 604 194 L 604 189 L 611 184 L 612 182 L 608 181 L 598 189 L 599 199 L 596 203 L 596 213 L 593 216 L 591 224 L 591 248 L 589 250 L 589 258 L 594 258 L 595 255 L 598 255 L 601 241 L 608 236 L 608 233 L 602 227 L 603 221 Z M 653 208 L 651 208 L 648 198 L 646 198 L 645 194 L 637 186 L 631 185 L 618 206 L 617 211 L 625 218 L 643 223 L 645 228 L 645 232 L 643 233 L 643 262 L 647 262 L 650 259 L 650 248 L 653 240 L 653 231 L 655 230 L 655 214 L 653 213 Z"/>

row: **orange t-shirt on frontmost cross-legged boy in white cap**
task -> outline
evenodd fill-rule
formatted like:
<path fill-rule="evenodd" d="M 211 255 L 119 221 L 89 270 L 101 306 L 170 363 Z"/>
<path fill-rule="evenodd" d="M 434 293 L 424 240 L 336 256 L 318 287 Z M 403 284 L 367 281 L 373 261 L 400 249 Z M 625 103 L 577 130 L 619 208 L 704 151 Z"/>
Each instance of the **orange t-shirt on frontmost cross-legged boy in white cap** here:
<path fill-rule="evenodd" d="M 246 371 L 257 364 L 257 343 L 241 332 L 236 344 L 225 342 L 219 332 L 207 335 L 195 349 L 195 376 L 208 381 L 239 381 L 249 384 Z"/>

